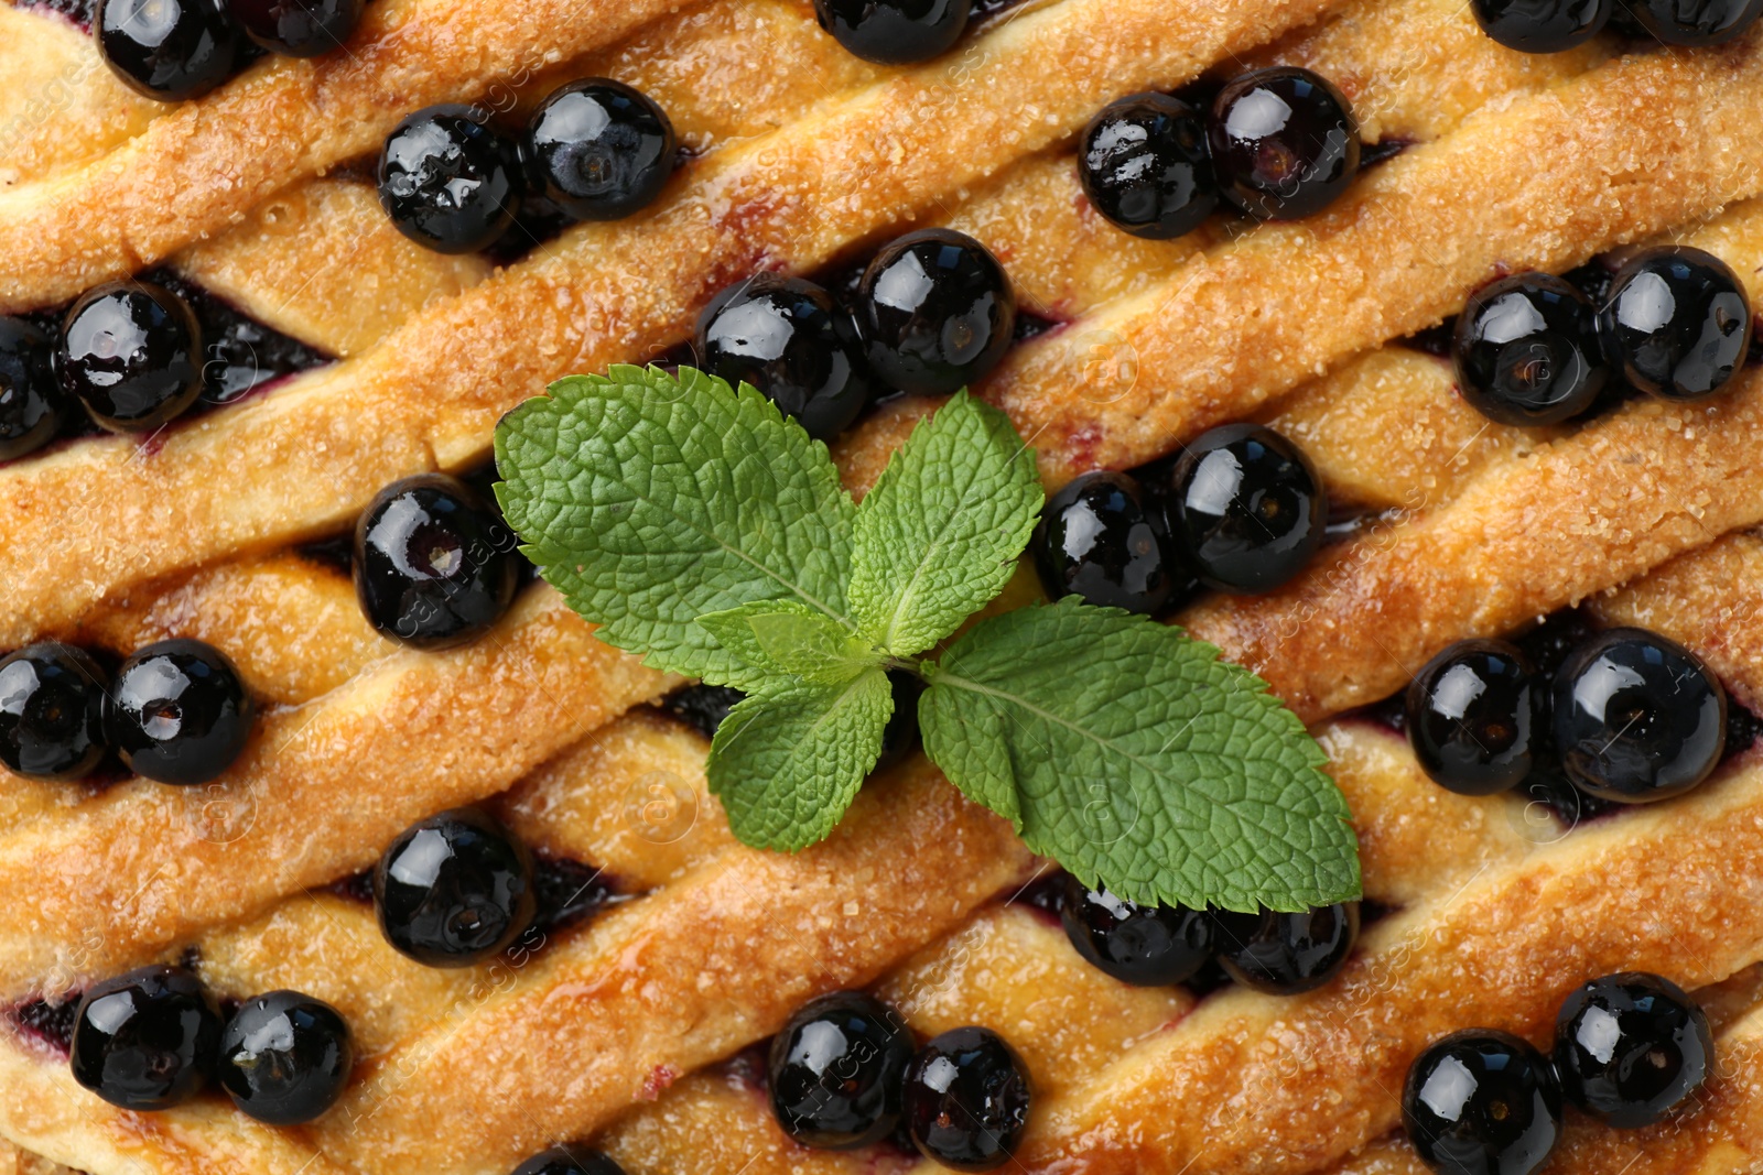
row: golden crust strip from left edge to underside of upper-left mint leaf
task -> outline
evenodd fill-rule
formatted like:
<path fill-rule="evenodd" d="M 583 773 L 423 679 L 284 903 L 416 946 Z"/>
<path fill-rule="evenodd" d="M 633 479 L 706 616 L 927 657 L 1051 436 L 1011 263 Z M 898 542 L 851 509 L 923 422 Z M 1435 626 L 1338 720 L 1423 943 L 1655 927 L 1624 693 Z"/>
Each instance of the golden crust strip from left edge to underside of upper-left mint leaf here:
<path fill-rule="evenodd" d="M 0 994 L 58 992 L 365 868 L 405 824 L 508 787 L 665 687 L 534 588 L 469 648 L 393 654 L 264 715 L 215 784 L 122 784 L 0 840 L 16 911 Z"/>

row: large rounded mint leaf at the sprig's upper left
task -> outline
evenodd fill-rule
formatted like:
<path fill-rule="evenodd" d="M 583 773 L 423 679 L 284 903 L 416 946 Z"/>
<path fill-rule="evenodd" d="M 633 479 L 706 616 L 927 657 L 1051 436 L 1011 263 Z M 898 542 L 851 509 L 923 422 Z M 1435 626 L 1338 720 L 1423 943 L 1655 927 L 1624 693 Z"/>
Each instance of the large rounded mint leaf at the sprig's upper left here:
<path fill-rule="evenodd" d="M 852 521 L 827 447 L 748 386 L 614 366 L 495 428 L 522 551 L 601 639 L 651 666 L 740 675 L 696 620 L 760 599 L 844 618 Z"/>

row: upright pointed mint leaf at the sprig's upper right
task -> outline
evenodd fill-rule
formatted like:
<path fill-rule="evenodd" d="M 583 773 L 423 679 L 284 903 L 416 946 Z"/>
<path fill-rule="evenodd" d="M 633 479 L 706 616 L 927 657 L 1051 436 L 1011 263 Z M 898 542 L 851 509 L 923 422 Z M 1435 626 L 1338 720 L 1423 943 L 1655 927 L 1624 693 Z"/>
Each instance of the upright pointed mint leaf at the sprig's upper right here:
<path fill-rule="evenodd" d="M 957 393 L 857 507 L 852 618 L 896 657 L 924 652 L 1003 590 L 1040 502 L 1010 418 Z"/>

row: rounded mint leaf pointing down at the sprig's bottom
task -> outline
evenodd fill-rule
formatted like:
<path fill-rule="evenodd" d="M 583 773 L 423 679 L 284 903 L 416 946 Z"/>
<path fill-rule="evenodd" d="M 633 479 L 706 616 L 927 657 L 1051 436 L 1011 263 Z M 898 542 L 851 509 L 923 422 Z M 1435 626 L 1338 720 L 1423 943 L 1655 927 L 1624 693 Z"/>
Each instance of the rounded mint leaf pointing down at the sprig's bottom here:
<path fill-rule="evenodd" d="M 878 668 L 843 685 L 792 685 L 728 712 L 709 782 L 742 844 L 795 853 L 834 830 L 882 754 L 894 687 Z"/>

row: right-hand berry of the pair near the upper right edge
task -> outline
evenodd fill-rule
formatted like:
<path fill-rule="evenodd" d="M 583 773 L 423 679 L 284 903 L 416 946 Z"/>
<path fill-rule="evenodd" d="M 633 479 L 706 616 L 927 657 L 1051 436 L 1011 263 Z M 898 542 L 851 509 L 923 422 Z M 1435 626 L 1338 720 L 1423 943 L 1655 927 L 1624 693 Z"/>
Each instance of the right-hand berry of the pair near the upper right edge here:
<path fill-rule="evenodd" d="M 1625 381 L 1666 400 L 1700 400 L 1744 366 L 1751 299 L 1719 257 L 1668 245 L 1617 271 L 1597 326 Z"/>

